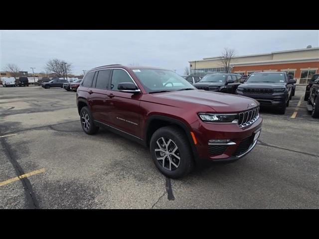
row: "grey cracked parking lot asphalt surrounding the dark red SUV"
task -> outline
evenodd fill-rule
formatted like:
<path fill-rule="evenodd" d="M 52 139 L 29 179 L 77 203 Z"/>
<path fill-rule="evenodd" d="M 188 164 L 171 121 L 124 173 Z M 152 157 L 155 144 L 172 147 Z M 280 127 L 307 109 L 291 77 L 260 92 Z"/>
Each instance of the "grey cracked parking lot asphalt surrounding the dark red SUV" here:
<path fill-rule="evenodd" d="M 1 87 L 0 208 L 318 209 L 319 119 L 306 110 L 305 87 L 285 115 L 261 110 L 247 156 L 179 180 L 157 170 L 148 148 L 105 129 L 85 134 L 76 93 Z"/>

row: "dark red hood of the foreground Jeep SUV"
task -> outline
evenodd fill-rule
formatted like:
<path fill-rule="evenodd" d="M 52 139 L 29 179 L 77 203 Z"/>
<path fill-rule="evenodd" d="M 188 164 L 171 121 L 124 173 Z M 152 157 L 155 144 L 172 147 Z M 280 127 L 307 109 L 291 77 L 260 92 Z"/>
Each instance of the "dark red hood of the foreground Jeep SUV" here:
<path fill-rule="evenodd" d="M 166 104 L 169 103 L 171 106 L 188 107 L 198 104 L 205 105 L 211 108 L 212 111 L 220 113 L 237 113 L 259 106 L 257 101 L 248 97 L 212 91 L 173 91 L 152 95 L 156 98 L 169 100 L 166 101 Z M 163 101 L 159 99 L 158 102 L 161 103 Z M 181 104 L 177 104 L 177 102 Z M 187 105 L 183 106 L 182 103 L 187 103 Z"/>

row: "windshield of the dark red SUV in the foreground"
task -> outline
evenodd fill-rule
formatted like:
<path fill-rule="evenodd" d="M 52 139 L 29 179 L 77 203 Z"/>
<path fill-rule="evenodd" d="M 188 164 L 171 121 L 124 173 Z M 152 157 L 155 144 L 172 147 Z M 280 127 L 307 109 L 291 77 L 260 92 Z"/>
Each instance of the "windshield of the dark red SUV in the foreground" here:
<path fill-rule="evenodd" d="M 133 72 L 148 93 L 196 89 L 192 84 L 172 71 L 134 69 Z"/>

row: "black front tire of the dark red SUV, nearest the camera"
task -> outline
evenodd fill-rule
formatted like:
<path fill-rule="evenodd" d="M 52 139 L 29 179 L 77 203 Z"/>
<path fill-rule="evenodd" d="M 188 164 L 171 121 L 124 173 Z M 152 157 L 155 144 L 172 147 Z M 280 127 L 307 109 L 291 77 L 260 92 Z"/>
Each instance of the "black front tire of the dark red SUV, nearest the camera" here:
<path fill-rule="evenodd" d="M 164 140 L 166 140 L 165 143 L 168 143 L 169 139 L 172 140 L 170 143 L 167 144 L 167 146 L 162 144 L 164 145 L 163 147 L 165 147 L 165 150 L 167 149 L 166 150 L 167 154 L 164 153 L 163 151 L 157 151 L 157 152 L 155 151 L 156 149 L 158 150 L 160 148 L 157 141 L 161 140 L 161 138 L 164 138 Z M 160 142 L 162 142 L 162 140 Z M 169 150 L 172 150 L 175 148 L 175 147 L 174 148 L 170 148 L 170 147 L 174 145 L 177 146 L 177 150 L 175 151 L 176 154 L 173 154 L 173 155 L 178 156 L 179 160 L 175 156 L 172 156 L 172 155 L 168 156 L 168 154 L 170 154 Z M 193 154 L 192 154 L 192 150 L 191 150 L 191 146 L 189 144 L 188 138 L 185 135 L 185 132 L 177 126 L 165 126 L 156 130 L 151 137 L 150 151 L 151 151 L 151 156 L 156 167 L 166 177 L 175 178 L 175 179 L 181 178 L 187 175 L 188 173 L 190 173 L 194 166 Z M 158 159 L 157 157 L 163 157 L 164 159 L 161 160 L 161 159 Z M 171 158 L 171 161 L 169 160 L 169 158 Z M 174 162 L 175 165 L 178 163 L 177 167 L 173 166 L 173 164 L 170 162 Z M 163 163 L 164 163 L 164 167 L 162 166 Z M 168 168 L 165 168 L 165 163 L 167 167 L 170 167 L 171 170 L 169 170 Z"/>

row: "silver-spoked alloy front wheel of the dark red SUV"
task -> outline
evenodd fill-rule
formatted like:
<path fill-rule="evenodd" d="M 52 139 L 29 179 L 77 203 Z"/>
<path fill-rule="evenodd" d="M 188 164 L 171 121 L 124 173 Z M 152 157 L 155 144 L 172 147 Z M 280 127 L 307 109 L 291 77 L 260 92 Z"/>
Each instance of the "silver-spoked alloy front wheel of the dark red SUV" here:
<path fill-rule="evenodd" d="M 156 143 L 155 156 L 158 161 L 161 161 L 161 166 L 168 171 L 177 169 L 180 163 L 180 153 L 175 142 L 170 138 L 160 137 Z"/>

